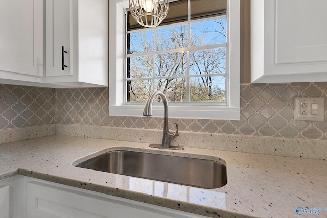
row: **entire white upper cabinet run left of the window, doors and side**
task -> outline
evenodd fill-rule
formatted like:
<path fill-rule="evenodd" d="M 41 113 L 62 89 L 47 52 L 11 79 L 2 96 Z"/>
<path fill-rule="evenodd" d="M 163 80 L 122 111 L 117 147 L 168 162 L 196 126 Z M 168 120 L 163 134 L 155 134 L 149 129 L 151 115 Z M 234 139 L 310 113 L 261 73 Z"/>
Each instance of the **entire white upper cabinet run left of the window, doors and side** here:
<path fill-rule="evenodd" d="M 0 83 L 108 86 L 107 0 L 0 0 Z"/>

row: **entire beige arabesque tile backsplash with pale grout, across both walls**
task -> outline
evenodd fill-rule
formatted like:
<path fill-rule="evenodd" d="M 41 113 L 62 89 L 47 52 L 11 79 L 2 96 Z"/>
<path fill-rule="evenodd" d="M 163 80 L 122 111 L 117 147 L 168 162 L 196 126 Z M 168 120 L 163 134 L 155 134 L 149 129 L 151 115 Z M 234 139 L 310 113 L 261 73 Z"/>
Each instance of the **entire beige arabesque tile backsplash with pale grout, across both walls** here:
<path fill-rule="evenodd" d="M 170 122 L 178 122 L 180 131 L 326 140 L 326 112 L 324 122 L 294 120 L 294 97 L 326 97 L 326 93 L 327 82 L 241 84 L 239 121 L 170 119 Z M 108 88 L 0 85 L 0 129 L 53 123 L 162 129 L 162 118 L 109 116 L 108 95 Z"/>

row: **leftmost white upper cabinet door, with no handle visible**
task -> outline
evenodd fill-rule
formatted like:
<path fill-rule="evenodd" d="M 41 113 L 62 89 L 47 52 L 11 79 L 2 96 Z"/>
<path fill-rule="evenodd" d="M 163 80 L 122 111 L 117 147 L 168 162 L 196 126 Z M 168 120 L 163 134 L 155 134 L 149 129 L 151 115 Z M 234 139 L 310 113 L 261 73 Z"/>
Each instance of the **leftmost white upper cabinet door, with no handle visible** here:
<path fill-rule="evenodd" d="M 0 77 L 42 77 L 43 0 L 0 0 L 0 30 Z"/>

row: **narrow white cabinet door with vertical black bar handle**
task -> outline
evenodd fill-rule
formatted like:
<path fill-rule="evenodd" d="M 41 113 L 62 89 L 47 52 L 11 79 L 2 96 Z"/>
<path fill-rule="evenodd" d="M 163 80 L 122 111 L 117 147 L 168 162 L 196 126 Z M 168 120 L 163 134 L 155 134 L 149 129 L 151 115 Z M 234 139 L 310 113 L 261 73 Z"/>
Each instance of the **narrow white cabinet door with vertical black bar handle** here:
<path fill-rule="evenodd" d="M 46 1 L 46 77 L 72 74 L 73 0 Z"/>

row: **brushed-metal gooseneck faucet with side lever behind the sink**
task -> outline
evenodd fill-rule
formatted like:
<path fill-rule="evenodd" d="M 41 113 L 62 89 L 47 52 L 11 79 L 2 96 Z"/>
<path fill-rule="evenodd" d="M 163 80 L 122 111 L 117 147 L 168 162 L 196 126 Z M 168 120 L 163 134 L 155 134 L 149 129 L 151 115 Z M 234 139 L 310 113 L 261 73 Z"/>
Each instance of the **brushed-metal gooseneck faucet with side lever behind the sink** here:
<path fill-rule="evenodd" d="M 150 144 L 149 147 L 159 148 L 159 149 L 174 149 L 174 150 L 183 150 L 181 146 L 171 146 L 170 141 L 176 138 L 178 134 L 178 124 L 176 123 L 176 132 L 170 133 L 168 129 L 168 103 L 167 98 L 164 93 L 161 91 L 154 91 L 149 96 L 147 102 L 145 103 L 143 116 L 152 116 L 152 104 L 154 102 L 155 96 L 159 95 L 164 102 L 164 135 L 162 136 L 161 144 Z"/>

